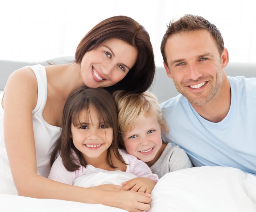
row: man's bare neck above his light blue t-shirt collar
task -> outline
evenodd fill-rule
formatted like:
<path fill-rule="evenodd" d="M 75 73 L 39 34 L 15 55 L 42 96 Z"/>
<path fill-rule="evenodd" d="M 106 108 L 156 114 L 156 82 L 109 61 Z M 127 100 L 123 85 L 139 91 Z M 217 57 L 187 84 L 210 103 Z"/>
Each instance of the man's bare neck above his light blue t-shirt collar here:
<path fill-rule="evenodd" d="M 223 76 L 222 85 L 214 97 L 204 105 L 194 105 L 193 108 L 204 119 L 211 122 L 220 122 L 228 114 L 231 104 L 231 90 L 228 78 Z"/>

